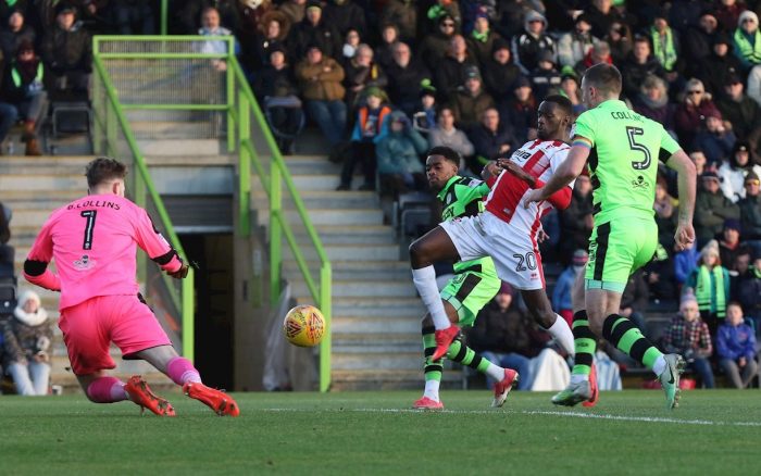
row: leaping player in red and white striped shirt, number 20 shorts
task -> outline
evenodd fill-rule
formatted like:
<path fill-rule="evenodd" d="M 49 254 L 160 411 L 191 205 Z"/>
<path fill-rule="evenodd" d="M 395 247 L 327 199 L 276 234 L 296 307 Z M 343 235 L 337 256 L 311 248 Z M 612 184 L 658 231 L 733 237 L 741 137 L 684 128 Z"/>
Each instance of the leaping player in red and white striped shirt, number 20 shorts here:
<path fill-rule="evenodd" d="M 552 206 L 567 208 L 573 185 L 545 202 L 527 209 L 522 204 L 524 193 L 541 187 L 565 160 L 569 151 L 565 140 L 572 117 L 572 105 L 566 98 L 547 97 L 538 110 L 538 138 L 525 143 L 510 159 L 500 159 L 487 166 L 491 192 L 486 199 L 486 211 L 441 223 L 410 246 L 413 281 L 436 326 L 437 348 L 432 359 L 444 356 L 460 331 L 451 324 L 439 298 L 433 263 L 483 256 L 491 256 L 500 279 L 521 290 L 534 320 L 573 355 L 571 328 L 552 311 L 544 289 L 537 243 L 542 233 L 539 220 Z"/>

